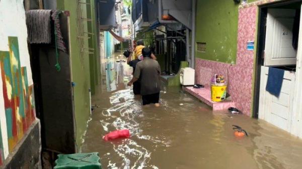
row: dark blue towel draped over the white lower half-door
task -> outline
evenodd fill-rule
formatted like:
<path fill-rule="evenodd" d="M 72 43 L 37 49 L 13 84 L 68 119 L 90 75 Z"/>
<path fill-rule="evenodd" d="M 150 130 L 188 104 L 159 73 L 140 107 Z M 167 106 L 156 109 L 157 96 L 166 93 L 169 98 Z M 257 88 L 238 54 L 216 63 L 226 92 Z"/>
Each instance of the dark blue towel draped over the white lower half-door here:
<path fill-rule="evenodd" d="M 265 90 L 270 94 L 279 97 L 283 82 L 284 70 L 268 68 L 268 78 Z"/>

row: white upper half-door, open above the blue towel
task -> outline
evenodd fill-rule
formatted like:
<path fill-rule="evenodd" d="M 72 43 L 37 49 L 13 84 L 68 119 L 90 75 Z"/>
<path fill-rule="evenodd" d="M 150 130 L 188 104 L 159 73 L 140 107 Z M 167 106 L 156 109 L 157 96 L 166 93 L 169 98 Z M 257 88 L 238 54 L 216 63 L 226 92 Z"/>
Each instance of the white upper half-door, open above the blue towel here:
<path fill-rule="evenodd" d="M 265 36 L 265 66 L 295 65 L 296 50 L 292 47 L 295 10 L 268 9 Z"/>

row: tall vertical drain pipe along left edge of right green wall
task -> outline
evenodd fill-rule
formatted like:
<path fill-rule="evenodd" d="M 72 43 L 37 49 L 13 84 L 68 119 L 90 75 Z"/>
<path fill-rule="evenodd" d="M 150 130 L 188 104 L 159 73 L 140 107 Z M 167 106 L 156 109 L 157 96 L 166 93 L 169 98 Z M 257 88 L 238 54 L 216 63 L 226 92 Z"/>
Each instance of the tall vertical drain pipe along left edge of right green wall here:
<path fill-rule="evenodd" d="M 191 43 L 191 68 L 195 69 L 195 23 L 196 23 L 196 0 L 192 0 L 192 43 Z"/>

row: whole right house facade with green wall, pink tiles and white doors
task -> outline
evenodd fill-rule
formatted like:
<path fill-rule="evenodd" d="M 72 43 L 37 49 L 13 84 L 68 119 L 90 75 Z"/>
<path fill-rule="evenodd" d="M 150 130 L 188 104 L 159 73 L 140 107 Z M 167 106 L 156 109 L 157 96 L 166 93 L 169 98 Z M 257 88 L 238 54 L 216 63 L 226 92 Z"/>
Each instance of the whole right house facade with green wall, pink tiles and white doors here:
<path fill-rule="evenodd" d="M 239 110 L 296 136 L 301 136 L 298 129 L 301 126 L 298 94 L 301 48 L 299 44 L 294 50 L 291 43 L 298 37 L 293 33 L 293 23 L 299 19 L 300 7 L 297 1 L 198 0 L 194 44 L 196 83 L 209 88 L 214 74 L 224 75 L 228 92 Z M 292 19 L 288 19 L 289 14 Z M 270 26 L 272 23 L 279 25 Z M 271 39 L 286 47 L 271 45 Z M 268 53 L 271 50 L 276 51 L 275 54 Z M 294 61 L 286 62 L 292 53 L 295 53 Z M 270 67 L 285 71 L 279 97 L 271 96 L 265 89 L 268 74 L 264 70 Z M 287 74 L 292 78 L 288 79 Z"/>

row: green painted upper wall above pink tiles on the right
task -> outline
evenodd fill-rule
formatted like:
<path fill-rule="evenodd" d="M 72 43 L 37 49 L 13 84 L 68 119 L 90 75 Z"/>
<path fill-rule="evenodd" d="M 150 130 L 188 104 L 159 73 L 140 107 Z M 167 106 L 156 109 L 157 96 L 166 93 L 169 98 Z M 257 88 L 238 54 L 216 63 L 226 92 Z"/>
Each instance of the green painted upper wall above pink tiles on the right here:
<path fill-rule="evenodd" d="M 197 58 L 236 64 L 238 7 L 234 1 L 197 1 L 196 42 L 206 43 L 205 53 L 196 47 Z"/>

